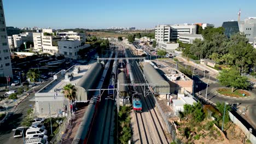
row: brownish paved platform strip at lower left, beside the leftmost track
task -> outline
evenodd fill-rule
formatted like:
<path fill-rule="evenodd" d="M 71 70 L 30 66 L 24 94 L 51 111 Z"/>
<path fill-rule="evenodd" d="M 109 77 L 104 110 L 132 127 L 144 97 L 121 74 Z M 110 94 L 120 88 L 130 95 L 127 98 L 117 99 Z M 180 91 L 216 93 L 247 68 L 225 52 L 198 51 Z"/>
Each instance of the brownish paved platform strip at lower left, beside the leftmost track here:
<path fill-rule="evenodd" d="M 84 117 L 84 113 L 86 111 L 86 106 L 83 106 L 83 107 L 79 107 L 78 111 L 75 112 L 75 118 L 73 120 L 73 122 L 71 122 L 71 127 L 69 127 L 66 131 L 65 131 L 65 134 L 63 134 L 63 141 L 62 143 L 72 143 L 74 137 L 75 137 L 75 134 L 77 134 L 77 131 L 78 131 L 78 128 L 79 128 L 79 125 L 80 123 L 82 122 L 83 120 L 83 117 Z"/>

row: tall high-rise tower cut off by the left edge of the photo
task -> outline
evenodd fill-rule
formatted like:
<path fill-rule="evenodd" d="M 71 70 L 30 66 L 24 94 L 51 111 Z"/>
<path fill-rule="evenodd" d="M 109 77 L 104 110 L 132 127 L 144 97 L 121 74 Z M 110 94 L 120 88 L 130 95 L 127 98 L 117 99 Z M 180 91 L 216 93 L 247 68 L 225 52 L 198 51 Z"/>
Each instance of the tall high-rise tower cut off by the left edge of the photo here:
<path fill-rule="evenodd" d="M 13 77 L 2 1 L 0 1 L 0 35 L 0 77 Z"/>

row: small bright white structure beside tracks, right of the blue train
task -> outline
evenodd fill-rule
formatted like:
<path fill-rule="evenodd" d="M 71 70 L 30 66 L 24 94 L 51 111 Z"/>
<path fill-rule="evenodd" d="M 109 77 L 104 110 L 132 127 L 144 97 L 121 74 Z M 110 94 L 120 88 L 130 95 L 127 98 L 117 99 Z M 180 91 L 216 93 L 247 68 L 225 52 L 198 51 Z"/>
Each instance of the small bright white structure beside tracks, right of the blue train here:
<path fill-rule="evenodd" d="M 174 112 L 177 114 L 178 112 L 184 112 L 184 105 L 193 105 L 196 101 L 192 97 L 185 97 L 184 94 L 178 94 L 177 99 L 172 100 L 172 106 Z"/>

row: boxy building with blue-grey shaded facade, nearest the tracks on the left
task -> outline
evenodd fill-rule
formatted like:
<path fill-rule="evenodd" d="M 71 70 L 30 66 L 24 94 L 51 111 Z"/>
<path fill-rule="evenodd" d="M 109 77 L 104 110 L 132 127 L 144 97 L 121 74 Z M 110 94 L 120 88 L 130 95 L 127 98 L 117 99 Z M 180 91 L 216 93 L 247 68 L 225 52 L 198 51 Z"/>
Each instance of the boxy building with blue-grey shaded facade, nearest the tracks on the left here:
<path fill-rule="evenodd" d="M 58 41 L 59 53 L 67 58 L 77 59 L 78 51 L 89 47 L 88 44 L 82 44 L 80 40 L 77 39 L 62 39 Z"/>

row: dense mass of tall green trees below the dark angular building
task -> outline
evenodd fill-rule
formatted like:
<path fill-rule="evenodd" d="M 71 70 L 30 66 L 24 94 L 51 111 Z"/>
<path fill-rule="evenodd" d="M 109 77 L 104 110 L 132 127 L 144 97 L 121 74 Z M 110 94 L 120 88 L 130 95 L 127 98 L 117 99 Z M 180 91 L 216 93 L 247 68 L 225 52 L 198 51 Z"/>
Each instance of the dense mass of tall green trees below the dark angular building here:
<path fill-rule="evenodd" d="M 230 38 L 224 34 L 224 28 L 206 27 L 202 30 L 203 40 L 195 39 L 193 44 L 180 44 L 183 56 L 199 60 L 212 59 L 218 64 L 240 67 L 245 71 L 256 65 L 256 49 L 248 43 L 246 35 L 236 33 Z"/>

